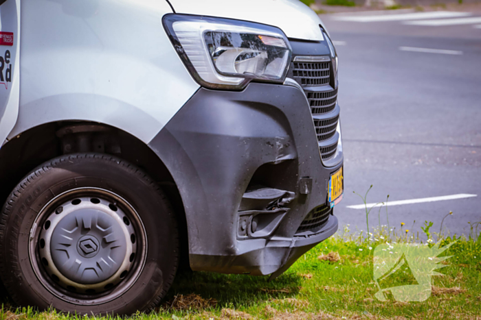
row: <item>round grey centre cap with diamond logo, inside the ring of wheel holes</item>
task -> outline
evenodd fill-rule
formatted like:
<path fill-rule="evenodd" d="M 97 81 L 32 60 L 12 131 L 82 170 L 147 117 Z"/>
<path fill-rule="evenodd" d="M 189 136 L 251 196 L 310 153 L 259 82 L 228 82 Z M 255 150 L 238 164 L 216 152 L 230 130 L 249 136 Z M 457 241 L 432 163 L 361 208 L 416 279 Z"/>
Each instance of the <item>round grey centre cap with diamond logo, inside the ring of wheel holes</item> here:
<path fill-rule="evenodd" d="M 128 262 L 135 245 L 127 225 L 116 219 L 118 210 L 114 212 L 102 202 L 93 204 L 91 199 L 80 200 L 78 205 L 64 204 L 60 217 L 51 218 L 56 225 L 50 225 L 50 246 L 44 249 L 49 249 L 56 269 L 67 279 L 96 284 L 111 278 L 124 260 Z M 45 231 L 47 234 L 48 229 Z"/>

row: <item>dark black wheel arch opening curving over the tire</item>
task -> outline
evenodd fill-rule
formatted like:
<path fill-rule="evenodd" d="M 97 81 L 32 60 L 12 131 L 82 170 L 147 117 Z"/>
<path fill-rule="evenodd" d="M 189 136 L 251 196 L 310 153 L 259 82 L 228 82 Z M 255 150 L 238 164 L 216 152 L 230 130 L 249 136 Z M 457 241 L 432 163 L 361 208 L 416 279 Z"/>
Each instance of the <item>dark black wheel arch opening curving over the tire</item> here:
<path fill-rule="evenodd" d="M 65 135 L 69 137 L 65 138 Z M 76 139 L 76 136 L 82 135 L 83 143 L 80 138 Z M 101 150 L 95 149 L 99 136 L 100 143 L 103 143 Z M 85 139 L 87 148 L 90 145 L 91 149 L 85 149 Z M 68 143 L 71 143 L 72 147 L 67 151 L 65 145 Z M 91 121 L 56 121 L 43 123 L 17 134 L 0 148 L 0 204 L 5 203 L 8 195 L 25 175 L 43 162 L 78 151 L 95 151 L 117 156 L 135 164 L 153 177 L 176 212 L 181 249 L 179 265 L 188 265 L 186 213 L 174 178 L 164 161 L 146 143 L 118 127 Z"/>

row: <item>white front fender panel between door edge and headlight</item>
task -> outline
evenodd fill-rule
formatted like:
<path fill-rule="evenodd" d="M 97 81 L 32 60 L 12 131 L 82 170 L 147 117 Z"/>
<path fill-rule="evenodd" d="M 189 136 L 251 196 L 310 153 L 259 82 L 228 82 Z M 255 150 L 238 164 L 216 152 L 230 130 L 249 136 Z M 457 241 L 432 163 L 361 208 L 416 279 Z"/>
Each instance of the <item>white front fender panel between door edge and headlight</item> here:
<path fill-rule="evenodd" d="M 23 0 L 22 90 L 10 138 L 80 120 L 150 142 L 199 89 L 164 31 L 171 12 L 162 0 Z"/>

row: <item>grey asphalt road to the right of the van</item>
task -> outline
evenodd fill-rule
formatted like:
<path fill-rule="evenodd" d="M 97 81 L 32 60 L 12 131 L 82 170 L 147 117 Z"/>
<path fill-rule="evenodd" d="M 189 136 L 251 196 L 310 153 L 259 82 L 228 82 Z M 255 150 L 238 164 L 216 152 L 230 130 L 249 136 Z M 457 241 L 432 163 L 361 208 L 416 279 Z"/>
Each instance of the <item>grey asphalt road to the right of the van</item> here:
<path fill-rule="evenodd" d="M 346 21 L 346 14 L 321 16 L 339 56 L 345 155 L 344 199 L 335 208 L 340 228 L 366 230 L 366 212 L 348 206 L 362 204 L 353 191 L 364 195 L 372 184 L 369 203 L 387 195 L 390 201 L 477 195 L 388 207 L 397 230 L 403 222 L 403 229 L 421 234 L 421 225 L 432 221 L 439 232 L 451 210 L 443 229 L 467 235 L 468 222 L 481 221 L 481 12 L 359 22 L 366 15 L 350 15 L 357 21 Z M 461 20 L 423 22 L 443 19 Z M 371 211 L 370 226 L 379 225 L 378 212 Z M 387 224 L 385 208 L 380 219 Z"/>

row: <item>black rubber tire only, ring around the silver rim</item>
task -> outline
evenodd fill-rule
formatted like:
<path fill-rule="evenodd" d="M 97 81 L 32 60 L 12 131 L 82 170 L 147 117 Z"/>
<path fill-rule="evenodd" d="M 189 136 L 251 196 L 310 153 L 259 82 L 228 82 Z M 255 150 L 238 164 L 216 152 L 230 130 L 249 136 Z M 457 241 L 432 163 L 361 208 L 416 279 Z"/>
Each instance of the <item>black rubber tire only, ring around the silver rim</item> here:
<path fill-rule="evenodd" d="M 34 267 L 41 263 L 30 261 L 35 260 L 32 255 L 40 255 L 32 247 L 40 245 L 35 236 L 29 241 L 30 232 L 36 232 L 34 221 L 58 197 L 68 195 L 69 190 L 94 192 L 97 188 L 120 195 L 135 209 L 144 227 L 144 258 L 132 262 L 135 272 L 129 271 L 132 276 L 124 275 L 131 277 L 129 280 L 122 280 L 109 291 L 96 295 L 74 293 L 55 284 L 49 271 Z M 36 306 L 40 310 L 53 306 L 80 315 L 131 315 L 137 310 L 152 310 L 166 295 L 177 271 L 178 246 L 175 214 L 164 193 L 146 173 L 120 158 L 76 153 L 45 162 L 8 197 L 0 219 L 0 277 L 19 306 Z"/>

